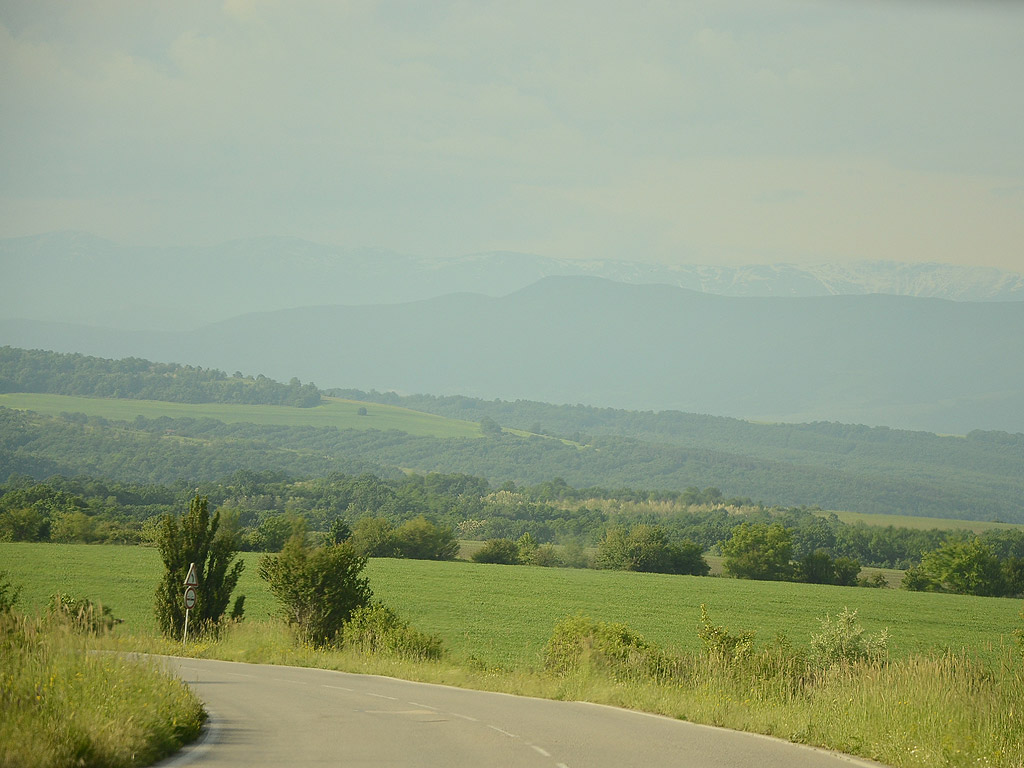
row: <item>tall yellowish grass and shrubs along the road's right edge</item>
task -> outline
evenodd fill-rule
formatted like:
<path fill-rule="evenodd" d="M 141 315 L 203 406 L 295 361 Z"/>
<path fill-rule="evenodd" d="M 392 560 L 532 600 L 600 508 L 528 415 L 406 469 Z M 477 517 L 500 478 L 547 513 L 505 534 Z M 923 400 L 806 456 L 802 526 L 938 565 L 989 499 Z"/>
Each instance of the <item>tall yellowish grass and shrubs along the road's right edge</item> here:
<path fill-rule="evenodd" d="M 853 613 L 809 649 L 758 648 L 705 616 L 698 653 L 673 654 L 623 625 L 575 617 L 548 644 L 566 698 L 779 736 L 899 768 L 1024 766 L 1024 662 L 997 668 L 964 653 L 887 658 Z M 709 632 L 708 630 L 712 630 Z M 717 633 L 715 631 L 718 631 Z M 823 638 L 823 639 L 822 639 Z M 852 644 L 851 644 L 852 639 Z"/>

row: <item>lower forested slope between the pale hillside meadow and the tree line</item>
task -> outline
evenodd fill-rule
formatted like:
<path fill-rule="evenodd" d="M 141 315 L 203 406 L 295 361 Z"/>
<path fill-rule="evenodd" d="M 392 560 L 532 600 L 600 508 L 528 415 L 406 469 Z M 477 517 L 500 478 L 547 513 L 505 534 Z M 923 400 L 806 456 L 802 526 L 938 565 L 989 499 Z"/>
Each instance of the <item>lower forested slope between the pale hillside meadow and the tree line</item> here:
<path fill-rule="evenodd" d="M 1024 480 L 961 473 L 948 481 L 658 444 L 612 435 L 586 444 L 508 432 L 438 438 L 398 431 L 224 424 L 212 419 L 112 422 L 0 409 L 0 477 L 91 474 L 120 481 L 202 482 L 233 471 L 466 472 L 505 482 L 561 478 L 575 487 L 683 490 L 714 485 L 770 505 L 1024 522 Z M 970 480 L 970 482 L 967 482 Z"/>

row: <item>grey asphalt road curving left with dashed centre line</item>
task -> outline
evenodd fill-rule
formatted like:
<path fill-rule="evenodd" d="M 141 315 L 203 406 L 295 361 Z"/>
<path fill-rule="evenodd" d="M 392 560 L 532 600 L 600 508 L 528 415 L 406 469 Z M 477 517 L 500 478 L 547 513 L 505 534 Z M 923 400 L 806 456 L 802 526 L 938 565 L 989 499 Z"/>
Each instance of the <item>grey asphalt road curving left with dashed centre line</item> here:
<path fill-rule="evenodd" d="M 851 768 L 767 736 L 572 701 L 296 667 L 166 658 L 206 703 L 164 768 Z"/>

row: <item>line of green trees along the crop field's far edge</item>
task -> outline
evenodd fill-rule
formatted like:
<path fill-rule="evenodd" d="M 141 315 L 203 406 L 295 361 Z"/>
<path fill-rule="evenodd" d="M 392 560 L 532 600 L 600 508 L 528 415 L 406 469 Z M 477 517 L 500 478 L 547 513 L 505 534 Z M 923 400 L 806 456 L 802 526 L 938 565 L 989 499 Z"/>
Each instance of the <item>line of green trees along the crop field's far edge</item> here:
<path fill-rule="evenodd" d="M 152 544 L 157 521 L 198 492 L 240 550 L 278 552 L 302 529 L 366 557 L 453 559 L 460 541 L 475 540 L 484 543 L 473 555 L 480 562 L 699 575 L 705 554 L 718 553 L 729 574 L 744 579 L 849 586 L 862 584 L 869 565 L 908 568 L 908 589 L 1024 591 L 1020 529 L 974 536 L 848 524 L 812 508 L 728 506 L 714 501 L 724 500 L 715 487 L 589 490 L 578 501 L 557 479 L 493 489 L 480 477 L 440 473 L 295 479 L 243 471 L 191 488 L 22 476 L 0 485 L 0 540 Z M 978 574 L 955 575 L 965 568 Z"/>

